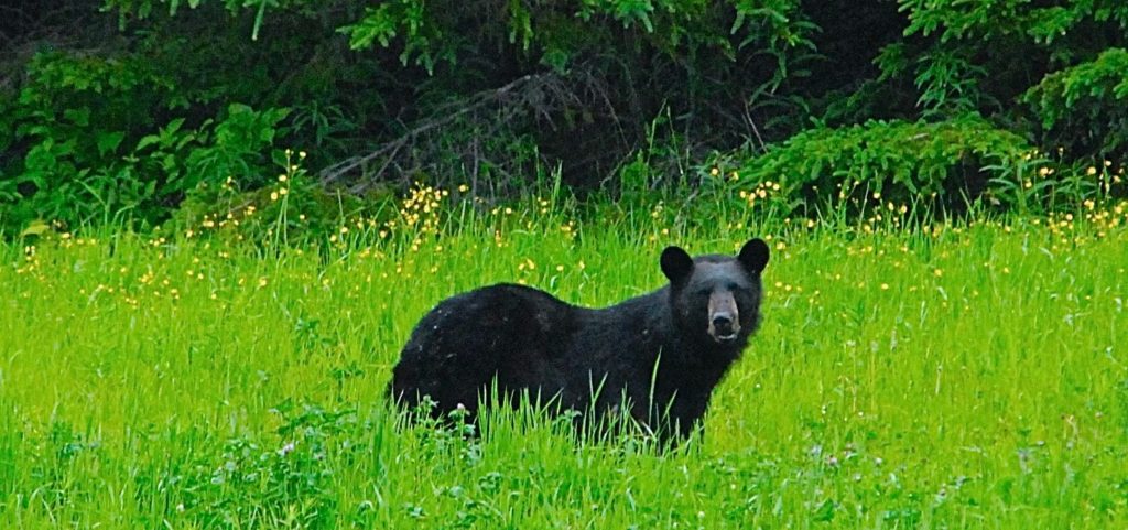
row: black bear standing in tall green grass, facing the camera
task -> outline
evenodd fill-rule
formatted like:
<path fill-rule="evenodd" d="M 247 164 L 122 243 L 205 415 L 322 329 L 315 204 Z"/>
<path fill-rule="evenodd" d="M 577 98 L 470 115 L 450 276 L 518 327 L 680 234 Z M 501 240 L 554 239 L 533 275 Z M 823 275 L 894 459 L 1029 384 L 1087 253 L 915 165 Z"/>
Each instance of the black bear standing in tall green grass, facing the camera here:
<path fill-rule="evenodd" d="M 625 405 L 659 438 L 684 438 L 759 325 L 768 246 L 696 258 L 667 247 L 660 262 L 668 285 L 603 309 L 513 284 L 443 300 L 404 346 L 391 397 L 473 415 L 496 385 L 513 401 L 527 390 L 580 413 Z"/>

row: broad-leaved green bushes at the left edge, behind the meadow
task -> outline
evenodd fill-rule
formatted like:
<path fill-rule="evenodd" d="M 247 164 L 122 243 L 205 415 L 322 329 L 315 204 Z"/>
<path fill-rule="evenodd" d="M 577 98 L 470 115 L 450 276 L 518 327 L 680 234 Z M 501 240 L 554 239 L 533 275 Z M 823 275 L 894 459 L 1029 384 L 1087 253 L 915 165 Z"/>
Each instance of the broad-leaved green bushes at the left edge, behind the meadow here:
<path fill-rule="evenodd" d="M 201 182 L 266 182 L 264 162 L 288 111 L 230 105 L 218 121 L 188 127 L 174 117 L 174 92 L 135 58 L 36 55 L 0 122 L 9 149 L 24 153 L 0 167 L 3 222 L 155 223 Z"/>

